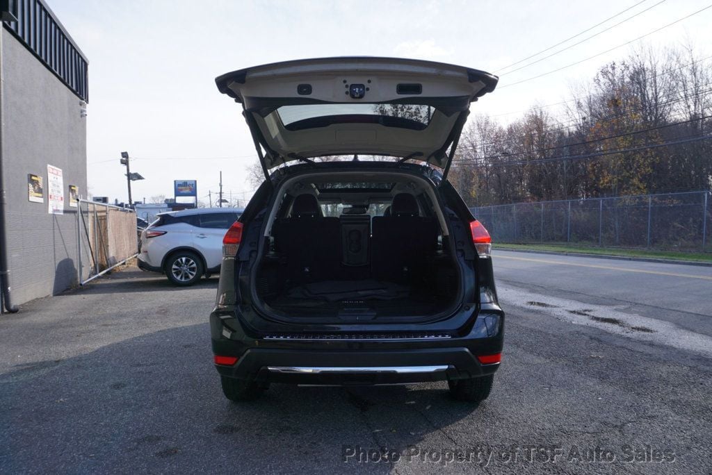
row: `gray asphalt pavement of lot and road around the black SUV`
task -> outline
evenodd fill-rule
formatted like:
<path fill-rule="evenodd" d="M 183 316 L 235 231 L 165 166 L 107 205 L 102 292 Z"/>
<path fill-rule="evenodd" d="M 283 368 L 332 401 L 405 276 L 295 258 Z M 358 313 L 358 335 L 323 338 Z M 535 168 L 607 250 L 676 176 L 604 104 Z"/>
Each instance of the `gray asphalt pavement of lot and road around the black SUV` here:
<path fill-rule="evenodd" d="M 0 472 L 710 473 L 711 309 L 696 292 L 712 268 L 495 262 L 505 358 L 476 409 L 444 383 L 273 385 L 234 405 L 211 363 L 216 279 L 178 289 L 129 267 L 33 301 L 0 320 Z M 651 295 L 612 299 L 604 272 Z M 665 308 L 662 274 L 683 276 L 667 281 L 681 301 L 689 282 L 694 308 Z"/>

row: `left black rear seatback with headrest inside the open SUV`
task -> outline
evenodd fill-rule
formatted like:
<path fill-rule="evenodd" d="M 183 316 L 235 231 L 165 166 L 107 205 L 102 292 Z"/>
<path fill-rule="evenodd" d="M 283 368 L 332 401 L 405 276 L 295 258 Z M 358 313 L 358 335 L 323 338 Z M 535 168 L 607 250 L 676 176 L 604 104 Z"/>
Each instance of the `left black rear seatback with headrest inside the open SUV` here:
<path fill-rule="evenodd" d="M 324 218 L 313 195 L 299 195 L 290 218 L 276 221 L 272 235 L 276 250 L 287 257 L 295 283 L 330 280 L 341 259 L 339 218 Z"/>

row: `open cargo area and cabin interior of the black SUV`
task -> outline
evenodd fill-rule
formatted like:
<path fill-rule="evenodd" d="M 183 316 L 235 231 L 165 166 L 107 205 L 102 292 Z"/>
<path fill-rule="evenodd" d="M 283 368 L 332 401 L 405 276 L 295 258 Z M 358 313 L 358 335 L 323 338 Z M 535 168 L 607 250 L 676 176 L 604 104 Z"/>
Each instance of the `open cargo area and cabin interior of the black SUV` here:
<path fill-rule="evenodd" d="M 294 183 L 283 193 L 256 279 L 272 309 L 429 314 L 458 282 L 426 185 Z"/>

